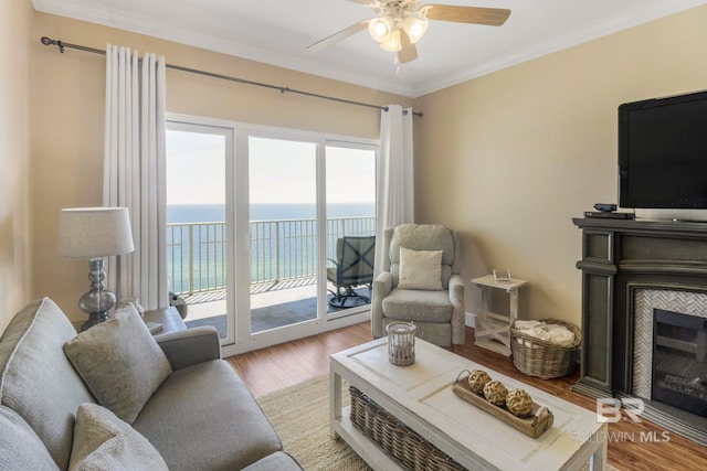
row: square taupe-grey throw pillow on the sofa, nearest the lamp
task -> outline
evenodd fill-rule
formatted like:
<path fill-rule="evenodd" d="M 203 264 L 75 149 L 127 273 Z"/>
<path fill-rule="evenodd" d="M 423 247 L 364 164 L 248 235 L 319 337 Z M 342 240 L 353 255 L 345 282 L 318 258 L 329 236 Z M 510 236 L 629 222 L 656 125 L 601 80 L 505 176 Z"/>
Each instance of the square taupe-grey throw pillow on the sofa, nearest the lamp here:
<path fill-rule="evenodd" d="M 96 399 L 128 424 L 172 371 L 133 306 L 66 342 L 64 352 Z"/>

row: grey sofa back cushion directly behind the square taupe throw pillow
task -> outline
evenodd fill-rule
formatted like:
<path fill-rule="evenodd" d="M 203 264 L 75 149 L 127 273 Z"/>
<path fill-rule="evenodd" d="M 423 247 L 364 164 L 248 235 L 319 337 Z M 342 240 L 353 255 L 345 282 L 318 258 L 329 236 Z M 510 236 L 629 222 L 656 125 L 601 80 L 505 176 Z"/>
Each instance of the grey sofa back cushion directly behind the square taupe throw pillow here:
<path fill-rule="evenodd" d="M 0 341 L 0 404 L 10 407 L 66 469 L 80 404 L 95 399 L 62 345 L 76 335 L 49 298 L 31 302 L 10 321 Z"/>

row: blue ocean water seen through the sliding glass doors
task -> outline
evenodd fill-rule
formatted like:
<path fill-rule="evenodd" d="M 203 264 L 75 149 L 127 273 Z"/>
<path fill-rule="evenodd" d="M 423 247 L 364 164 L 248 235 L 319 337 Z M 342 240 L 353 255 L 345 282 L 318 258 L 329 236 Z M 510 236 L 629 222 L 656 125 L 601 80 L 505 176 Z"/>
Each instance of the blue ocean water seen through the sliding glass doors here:
<path fill-rule="evenodd" d="M 327 217 L 352 220 L 327 224 L 328 258 L 335 258 L 336 238 L 373 234 L 374 222 L 357 220 L 376 214 L 371 204 L 331 204 Z M 313 276 L 316 272 L 316 224 L 314 204 L 251 205 L 251 282 Z M 293 221 L 283 223 L 282 221 Z M 168 224 L 200 223 L 176 226 L 167 232 L 170 290 L 222 289 L 226 272 L 225 206 L 218 204 L 168 205 Z M 191 275 L 191 277 L 190 277 Z"/>

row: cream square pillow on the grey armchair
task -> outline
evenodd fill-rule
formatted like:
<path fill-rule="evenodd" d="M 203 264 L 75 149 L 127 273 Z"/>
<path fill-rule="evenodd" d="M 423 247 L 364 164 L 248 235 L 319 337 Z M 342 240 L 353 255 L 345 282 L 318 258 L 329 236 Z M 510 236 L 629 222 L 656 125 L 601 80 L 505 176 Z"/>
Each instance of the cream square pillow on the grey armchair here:
<path fill-rule="evenodd" d="M 442 289 L 442 250 L 412 250 L 400 247 L 402 289 Z"/>

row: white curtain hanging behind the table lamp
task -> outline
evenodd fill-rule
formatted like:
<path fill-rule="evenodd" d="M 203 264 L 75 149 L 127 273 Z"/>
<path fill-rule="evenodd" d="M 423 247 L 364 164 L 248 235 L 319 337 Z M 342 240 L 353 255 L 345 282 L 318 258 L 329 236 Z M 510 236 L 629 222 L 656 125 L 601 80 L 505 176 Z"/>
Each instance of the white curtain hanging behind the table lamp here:
<path fill-rule="evenodd" d="M 165 57 L 108 44 L 103 203 L 130 213 L 135 251 L 108 261 L 108 289 L 144 309 L 169 306 Z"/>

